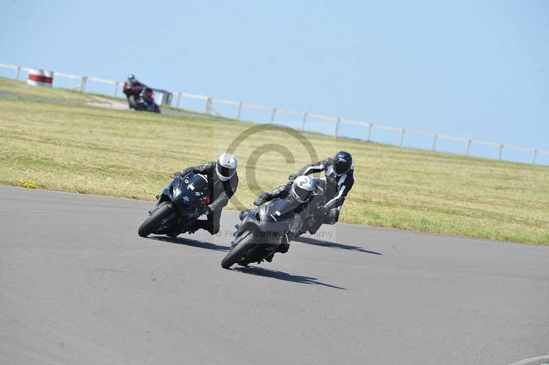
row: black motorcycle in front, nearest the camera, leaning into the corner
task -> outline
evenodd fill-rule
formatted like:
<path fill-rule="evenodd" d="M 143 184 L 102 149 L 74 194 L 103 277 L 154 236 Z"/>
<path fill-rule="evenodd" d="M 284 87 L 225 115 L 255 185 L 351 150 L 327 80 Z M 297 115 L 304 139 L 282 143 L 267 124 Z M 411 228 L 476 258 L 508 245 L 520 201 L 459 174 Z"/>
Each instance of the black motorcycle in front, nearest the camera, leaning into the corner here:
<path fill-rule="evenodd" d="M 261 263 L 277 250 L 294 220 L 295 207 L 285 199 L 273 199 L 246 213 L 234 234 L 233 246 L 222 259 L 224 269 L 238 263 Z"/>

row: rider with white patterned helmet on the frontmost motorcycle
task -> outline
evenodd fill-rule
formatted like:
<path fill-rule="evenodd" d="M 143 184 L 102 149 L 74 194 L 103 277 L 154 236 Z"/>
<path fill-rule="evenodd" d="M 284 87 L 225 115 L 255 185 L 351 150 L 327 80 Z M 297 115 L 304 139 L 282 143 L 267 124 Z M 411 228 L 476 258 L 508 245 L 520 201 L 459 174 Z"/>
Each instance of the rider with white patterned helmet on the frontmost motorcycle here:
<path fill-rule="evenodd" d="M 264 202 L 269 202 L 274 198 L 281 198 L 288 200 L 290 207 L 292 207 L 293 212 L 296 214 L 301 213 L 303 209 L 307 208 L 311 198 L 314 196 L 314 183 L 312 178 L 309 176 L 297 176 L 293 181 L 288 182 L 285 185 L 281 185 L 276 189 L 268 192 L 262 193 L 253 204 L 256 207 L 263 204 Z M 240 213 L 240 219 L 244 218 L 248 211 L 242 211 Z M 290 248 L 290 237 L 288 233 L 282 238 L 282 244 L 280 244 L 275 252 L 286 253 Z M 266 257 L 266 261 L 271 262 L 274 257 L 274 252 L 271 255 Z"/>

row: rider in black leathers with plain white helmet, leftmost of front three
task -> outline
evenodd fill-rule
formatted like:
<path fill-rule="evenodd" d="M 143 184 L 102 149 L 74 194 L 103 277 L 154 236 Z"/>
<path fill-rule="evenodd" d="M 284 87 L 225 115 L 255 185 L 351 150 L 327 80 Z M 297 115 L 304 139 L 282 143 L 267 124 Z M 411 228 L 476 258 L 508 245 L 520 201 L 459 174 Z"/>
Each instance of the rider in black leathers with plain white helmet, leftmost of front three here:
<path fill-rule="evenodd" d="M 218 233 L 220 228 L 221 211 L 229 203 L 229 199 L 235 194 L 238 187 L 238 165 L 235 155 L 224 153 L 219 156 L 218 161 L 203 163 L 198 166 L 191 166 L 180 172 L 175 172 L 174 177 L 185 176 L 189 172 L 205 175 L 208 179 L 211 191 L 211 202 L 204 207 L 200 213 L 207 215 L 207 220 L 197 220 L 195 225 L 189 229 L 194 233 L 202 228 L 211 235 Z"/>

